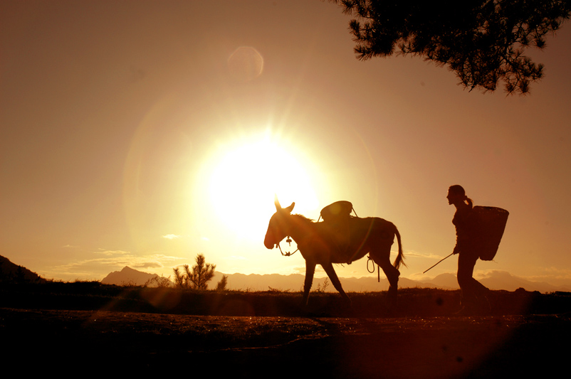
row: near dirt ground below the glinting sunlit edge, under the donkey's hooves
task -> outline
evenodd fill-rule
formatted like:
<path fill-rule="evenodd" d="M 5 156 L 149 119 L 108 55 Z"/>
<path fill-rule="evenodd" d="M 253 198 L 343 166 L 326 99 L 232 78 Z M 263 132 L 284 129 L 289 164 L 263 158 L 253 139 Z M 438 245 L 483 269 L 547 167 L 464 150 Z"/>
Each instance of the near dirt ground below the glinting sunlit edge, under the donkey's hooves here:
<path fill-rule="evenodd" d="M 567 368 L 569 314 L 396 318 L 0 309 L 26 373 L 499 378 Z M 200 372 L 208 374 L 198 375 Z M 66 375 L 67 376 L 67 375 Z"/>

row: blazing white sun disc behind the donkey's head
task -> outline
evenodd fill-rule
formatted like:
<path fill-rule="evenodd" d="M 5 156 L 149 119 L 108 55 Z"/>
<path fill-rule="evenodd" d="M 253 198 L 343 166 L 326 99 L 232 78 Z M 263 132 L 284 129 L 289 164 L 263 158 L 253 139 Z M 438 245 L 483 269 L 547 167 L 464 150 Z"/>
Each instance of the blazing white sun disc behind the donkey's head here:
<path fill-rule="evenodd" d="M 296 210 L 318 207 L 313 165 L 307 157 L 285 149 L 270 137 L 241 140 L 225 146 L 211 171 L 210 201 L 219 220 L 243 237 L 260 239 L 276 210 L 274 195 Z"/>

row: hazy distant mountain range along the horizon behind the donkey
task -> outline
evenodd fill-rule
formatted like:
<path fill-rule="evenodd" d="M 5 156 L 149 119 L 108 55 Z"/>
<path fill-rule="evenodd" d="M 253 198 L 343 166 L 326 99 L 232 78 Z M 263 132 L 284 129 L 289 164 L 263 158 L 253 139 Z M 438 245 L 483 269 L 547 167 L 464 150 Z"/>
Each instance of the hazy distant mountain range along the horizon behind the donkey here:
<path fill-rule="evenodd" d="M 221 272 L 216 272 L 214 278 L 209 282 L 209 287 L 214 288 L 224 275 Z M 241 291 L 301 291 L 303 290 L 303 274 L 225 274 L 228 277 L 227 289 L 241 290 Z M 140 272 L 130 267 L 124 267 L 121 271 L 115 271 L 108 274 L 101 282 L 103 284 L 133 284 L 143 285 L 153 277 L 158 277 L 157 274 L 149 274 L 147 272 Z M 376 276 L 371 277 L 342 277 L 340 278 L 343 289 L 346 292 L 373 292 L 373 291 L 386 291 L 389 288 L 387 279 L 382 278 L 380 282 L 377 281 Z M 505 271 L 492 271 L 487 277 L 479 279 L 480 282 L 489 289 L 504 289 L 506 291 L 515 291 L 515 289 L 523 288 L 527 291 L 538 292 L 571 292 L 570 286 L 554 286 L 545 282 L 532 282 L 520 277 L 514 277 L 509 272 Z M 318 286 L 323 288 L 325 278 L 313 279 L 312 289 L 317 289 Z M 399 280 L 399 287 L 419 287 L 419 288 L 441 288 L 441 289 L 458 289 L 458 282 L 456 282 L 455 274 L 440 274 L 434 279 L 429 281 L 416 281 L 401 277 Z M 328 285 L 325 288 L 327 292 L 335 292 L 335 288 L 328 279 Z"/>

